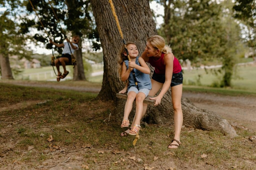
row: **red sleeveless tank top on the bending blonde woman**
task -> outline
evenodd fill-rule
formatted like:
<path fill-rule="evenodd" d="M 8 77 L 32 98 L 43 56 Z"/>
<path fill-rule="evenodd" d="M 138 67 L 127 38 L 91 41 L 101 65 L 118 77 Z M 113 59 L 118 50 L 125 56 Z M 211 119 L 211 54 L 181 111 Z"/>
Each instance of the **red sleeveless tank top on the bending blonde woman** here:
<path fill-rule="evenodd" d="M 161 57 L 157 60 L 154 57 L 149 57 L 148 62 L 151 66 L 155 67 L 155 72 L 157 74 L 165 74 L 165 64 L 164 64 L 164 55 L 165 53 L 161 54 Z M 182 68 L 180 63 L 176 57 L 173 59 L 173 73 L 181 72 Z"/>

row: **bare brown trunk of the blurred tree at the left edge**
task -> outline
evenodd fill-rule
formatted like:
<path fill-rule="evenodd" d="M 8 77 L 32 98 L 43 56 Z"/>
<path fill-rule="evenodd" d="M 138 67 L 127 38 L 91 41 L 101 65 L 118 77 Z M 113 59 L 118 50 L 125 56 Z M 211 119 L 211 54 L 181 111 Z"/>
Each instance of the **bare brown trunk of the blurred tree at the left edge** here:
<path fill-rule="evenodd" d="M 13 79 L 9 57 L 4 57 L 2 54 L 0 54 L 0 66 L 2 79 Z"/>

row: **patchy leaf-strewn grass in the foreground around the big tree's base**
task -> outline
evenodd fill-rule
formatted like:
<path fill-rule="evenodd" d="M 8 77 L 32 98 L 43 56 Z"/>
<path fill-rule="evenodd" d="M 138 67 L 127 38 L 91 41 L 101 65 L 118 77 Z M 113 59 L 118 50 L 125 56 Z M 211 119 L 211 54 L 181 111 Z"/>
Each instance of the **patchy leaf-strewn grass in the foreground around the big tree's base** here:
<path fill-rule="evenodd" d="M 173 125 L 147 124 L 134 147 L 134 136 L 119 136 L 113 101 L 97 93 L 1 82 L 0 91 L 1 169 L 256 169 L 249 130 L 230 138 L 183 127 L 182 145 L 169 150 Z"/>

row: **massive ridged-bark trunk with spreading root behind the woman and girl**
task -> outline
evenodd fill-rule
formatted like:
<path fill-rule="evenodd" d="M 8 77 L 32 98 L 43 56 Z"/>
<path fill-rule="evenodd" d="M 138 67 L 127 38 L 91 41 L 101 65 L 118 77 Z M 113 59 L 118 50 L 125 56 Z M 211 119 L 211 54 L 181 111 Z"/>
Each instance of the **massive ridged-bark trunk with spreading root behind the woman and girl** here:
<path fill-rule="evenodd" d="M 115 97 L 124 87 L 117 69 L 122 39 L 108 1 L 92 0 L 91 2 L 104 56 L 103 83 L 98 99 L 113 99 L 116 103 L 116 114 L 123 113 L 125 100 Z M 114 0 L 113 4 L 126 42 L 134 42 L 142 53 L 146 39 L 157 34 L 148 0 Z M 151 72 L 153 73 L 152 67 Z M 236 136 L 236 131 L 226 120 L 215 113 L 196 108 L 188 99 L 182 99 L 182 109 L 184 125 L 204 130 L 220 130 L 225 134 Z M 134 109 L 130 115 L 134 115 Z M 122 118 L 120 115 L 117 116 Z M 144 121 L 167 124 L 171 120 L 173 120 L 173 108 L 169 89 L 162 99 L 161 106 L 148 106 Z"/>

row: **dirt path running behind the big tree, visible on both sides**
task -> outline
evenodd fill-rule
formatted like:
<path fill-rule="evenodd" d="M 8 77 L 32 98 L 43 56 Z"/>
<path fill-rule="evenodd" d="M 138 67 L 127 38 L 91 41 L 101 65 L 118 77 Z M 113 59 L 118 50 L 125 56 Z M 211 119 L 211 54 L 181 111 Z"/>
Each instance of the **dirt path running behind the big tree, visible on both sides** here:
<path fill-rule="evenodd" d="M 10 82 L 8 82 L 10 83 Z M 12 82 L 11 84 L 27 86 L 27 87 L 46 87 L 69 89 L 76 91 L 87 91 L 98 93 L 99 88 L 91 87 L 71 87 L 65 85 L 52 85 L 41 83 L 28 83 L 28 82 Z M 197 107 L 214 111 L 227 119 L 231 124 L 245 126 L 249 130 L 256 130 L 256 98 L 255 97 L 236 97 L 236 96 L 223 96 L 209 93 L 193 93 L 183 92 L 182 97 L 190 99 Z"/>

